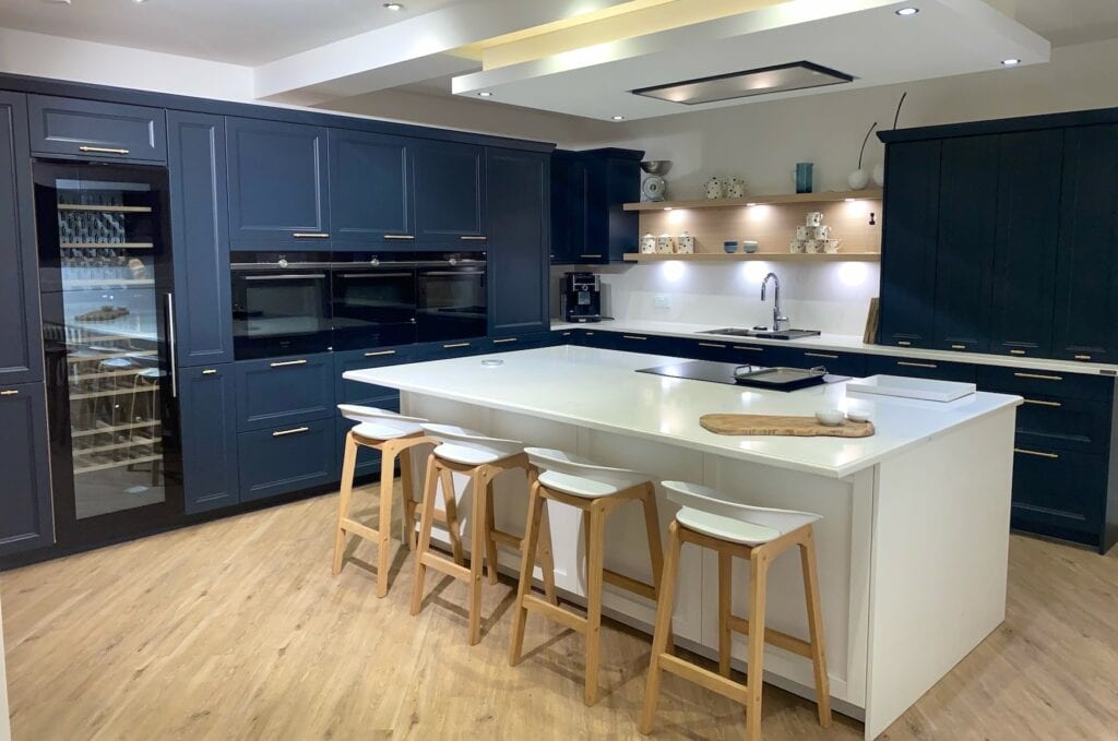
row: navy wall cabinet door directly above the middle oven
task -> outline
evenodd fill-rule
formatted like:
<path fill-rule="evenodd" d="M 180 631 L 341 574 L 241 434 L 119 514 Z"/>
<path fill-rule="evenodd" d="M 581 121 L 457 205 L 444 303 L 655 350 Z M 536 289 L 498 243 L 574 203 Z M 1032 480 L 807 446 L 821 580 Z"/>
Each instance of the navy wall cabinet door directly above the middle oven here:
<path fill-rule="evenodd" d="M 415 240 L 411 140 L 348 129 L 330 134 L 330 228 L 334 249 L 394 249 Z"/>

